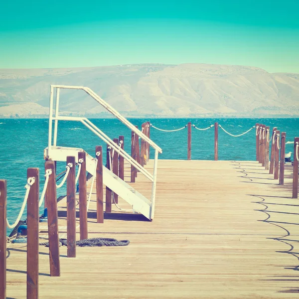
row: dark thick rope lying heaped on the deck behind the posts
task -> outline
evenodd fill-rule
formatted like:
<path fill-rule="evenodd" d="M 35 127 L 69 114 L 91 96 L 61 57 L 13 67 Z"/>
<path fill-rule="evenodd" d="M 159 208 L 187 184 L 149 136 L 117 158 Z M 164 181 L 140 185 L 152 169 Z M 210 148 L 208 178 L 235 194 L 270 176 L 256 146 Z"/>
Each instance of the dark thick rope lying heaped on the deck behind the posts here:
<path fill-rule="evenodd" d="M 76 245 L 80 247 L 95 247 L 95 246 L 127 246 L 130 244 L 129 240 L 120 240 L 113 238 L 90 238 L 76 241 Z M 49 247 L 49 242 L 40 242 L 39 245 Z M 67 246 L 66 239 L 59 239 L 59 247 Z"/>

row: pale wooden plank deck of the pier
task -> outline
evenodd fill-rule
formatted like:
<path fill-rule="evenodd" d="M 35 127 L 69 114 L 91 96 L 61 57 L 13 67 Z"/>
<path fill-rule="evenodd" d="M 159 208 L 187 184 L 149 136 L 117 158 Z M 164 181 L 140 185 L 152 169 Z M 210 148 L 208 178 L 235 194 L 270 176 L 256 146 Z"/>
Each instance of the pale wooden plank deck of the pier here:
<path fill-rule="evenodd" d="M 291 169 L 284 186 L 267 172 L 256 161 L 159 160 L 152 222 L 113 206 L 96 223 L 94 191 L 88 237 L 130 245 L 77 247 L 76 258 L 60 247 L 61 277 L 49 276 L 48 248 L 39 246 L 39 298 L 298 298 L 299 261 L 288 253 L 291 244 L 299 254 Z M 150 194 L 141 175 L 133 185 Z M 65 238 L 65 199 L 58 210 Z M 46 230 L 40 223 L 40 236 Z M 26 245 L 7 247 L 7 298 L 26 298 Z"/>

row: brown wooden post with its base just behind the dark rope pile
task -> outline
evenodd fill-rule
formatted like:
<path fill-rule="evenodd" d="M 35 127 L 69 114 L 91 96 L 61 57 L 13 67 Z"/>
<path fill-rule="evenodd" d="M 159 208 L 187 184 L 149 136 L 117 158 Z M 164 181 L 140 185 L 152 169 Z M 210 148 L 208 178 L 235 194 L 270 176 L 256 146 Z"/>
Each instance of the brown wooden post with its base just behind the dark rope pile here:
<path fill-rule="evenodd" d="M 81 170 L 79 174 L 79 219 L 80 219 L 80 240 L 88 238 L 87 228 L 87 187 L 86 187 L 86 152 L 78 152 L 78 161 L 81 162 Z"/>

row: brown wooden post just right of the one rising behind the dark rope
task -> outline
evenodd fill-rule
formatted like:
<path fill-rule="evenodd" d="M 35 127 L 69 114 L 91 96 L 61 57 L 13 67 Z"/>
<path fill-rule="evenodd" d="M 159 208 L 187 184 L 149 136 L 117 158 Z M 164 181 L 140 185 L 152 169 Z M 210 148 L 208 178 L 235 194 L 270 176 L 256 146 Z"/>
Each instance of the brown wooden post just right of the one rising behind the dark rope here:
<path fill-rule="evenodd" d="M 103 193 L 103 149 L 102 146 L 96 146 L 97 172 L 97 223 L 104 223 L 104 193 Z M 108 166 L 108 164 L 107 164 Z"/>

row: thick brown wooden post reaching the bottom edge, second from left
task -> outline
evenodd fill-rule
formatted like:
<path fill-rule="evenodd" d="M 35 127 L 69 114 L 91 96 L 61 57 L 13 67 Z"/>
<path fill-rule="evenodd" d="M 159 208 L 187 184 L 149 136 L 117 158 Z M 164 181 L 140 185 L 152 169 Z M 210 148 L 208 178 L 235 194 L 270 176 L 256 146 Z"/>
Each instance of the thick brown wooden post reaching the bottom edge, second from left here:
<path fill-rule="evenodd" d="M 28 168 L 27 179 L 34 177 L 27 199 L 27 299 L 38 299 L 38 223 L 39 169 Z"/>

